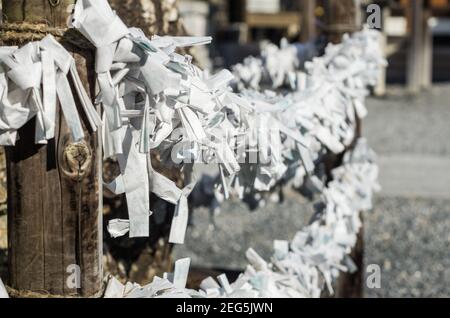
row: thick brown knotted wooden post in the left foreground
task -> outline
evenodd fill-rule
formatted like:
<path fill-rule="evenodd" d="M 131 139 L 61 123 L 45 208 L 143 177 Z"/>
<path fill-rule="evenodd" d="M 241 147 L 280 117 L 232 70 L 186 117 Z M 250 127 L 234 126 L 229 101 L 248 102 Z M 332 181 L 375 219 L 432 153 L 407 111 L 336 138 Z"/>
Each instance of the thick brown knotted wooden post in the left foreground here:
<path fill-rule="evenodd" d="M 4 22 L 39 26 L 44 33 L 46 27 L 64 29 L 69 4 L 73 1 L 3 0 Z M 24 43 L 18 40 L 3 44 L 23 45 L 42 35 L 36 33 L 35 38 L 24 39 L 18 34 Z M 8 42 L 15 42 L 14 35 L 8 38 Z M 94 96 L 93 50 L 64 40 L 61 43 L 73 54 L 82 82 Z M 83 114 L 76 94 L 74 97 Z M 86 137 L 80 144 L 72 143 L 59 112 L 56 137 L 48 145 L 35 144 L 35 121 L 31 120 L 19 130 L 16 146 L 7 147 L 9 285 L 13 296 L 101 293 L 101 139 L 86 129 L 86 118 L 81 118 Z M 80 165 L 86 169 L 81 171 Z"/>

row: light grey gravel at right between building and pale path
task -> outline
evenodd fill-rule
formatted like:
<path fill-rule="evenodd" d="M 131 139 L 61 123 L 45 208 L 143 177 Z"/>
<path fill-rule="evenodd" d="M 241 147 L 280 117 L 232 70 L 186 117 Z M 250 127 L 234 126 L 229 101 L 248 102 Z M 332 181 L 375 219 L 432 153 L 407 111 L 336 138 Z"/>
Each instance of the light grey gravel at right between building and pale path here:
<path fill-rule="evenodd" d="M 377 153 L 450 155 L 449 84 L 415 97 L 390 88 L 385 98 L 370 98 L 367 104 L 363 133 Z"/>

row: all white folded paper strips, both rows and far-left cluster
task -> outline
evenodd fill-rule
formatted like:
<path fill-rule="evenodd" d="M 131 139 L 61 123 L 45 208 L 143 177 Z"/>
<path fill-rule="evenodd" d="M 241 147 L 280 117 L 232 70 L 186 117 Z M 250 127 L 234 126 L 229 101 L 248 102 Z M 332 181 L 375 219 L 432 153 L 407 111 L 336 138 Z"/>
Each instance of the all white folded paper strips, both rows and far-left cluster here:
<path fill-rule="evenodd" d="M 281 95 L 255 90 L 257 82 L 240 85 L 253 89 L 234 93 L 231 72 L 209 76 L 190 56 L 176 52 L 179 47 L 207 44 L 210 37 L 149 39 L 141 30 L 126 27 L 106 0 L 77 1 L 70 26 L 96 47 L 100 88 L 96 103 L 102 105 L 102 118 L 82 89 L 73 59 L 62 58 L 67 52 L 47 37 L 20 49 L 0 49 L 0 142 L 14 144 L 17 129 L 33 117 L 36 142 L 52 138 L 57 98 L 74 140 L 81 140 L 79 115 L 66 79 L 70 72 L 79 83 L 74 86 L 92 128 L 103 125 L 105 158 L 116 158 L 120 166 L 119 177 L 105 186 L 125 193 L 129 220 L 112 220 L 108 225 L 112 236 L 149 235 L 153 192 L 176 205 L 170 242 L 182 244 L 187 198 L 199 180 L 198 165 L 204 163 L 219 167 L 217 197 L 243 198 L 292 182 L 308 185 L 323 203 L 317 205 L 315 222 L 292 242 L 275 243 L 271 263 L 249 250 L 250 265 L 233 284 L 220 276 L 219 283 L 207 279 L 200 291 L 187 290 L 189 261 L 180 260 L 173 275 L 155 278 L 145 287 L 123 286 L 111 279 L 106 296 L 318 297 L 324 283 L 331 289 L 339 270 L 351 267 L 346 255 L 356 241 L 359 212 L 370 208 L 377 188 L 377 166 L 364 139 L 333 171 L 332 182 L 325 183 L 316 163 L 326 153 L 342 153 L 355 140 L 357 120 L 367 114 L 367 88 L 376 83 L 385 65 L 378 33 L 364 29 L 345 36 L 339 45 L 329 45 L 323 56 L 305 64 L 307 73 L 302 76 L 293 76 L 298 61 L 285 61 L 278 73 L 271 73 L 273 87 L 287 78 L 296 90 Z M 290 49 L 287 52 L 292 56 Z M 276 59 L 265 59 L 272 61 L 274 70 Z M 152 151 L 164 164 L 182 170 L 184 188 L 153 169 Z M 248 163 L 252 156 L 258 160 Z"/>

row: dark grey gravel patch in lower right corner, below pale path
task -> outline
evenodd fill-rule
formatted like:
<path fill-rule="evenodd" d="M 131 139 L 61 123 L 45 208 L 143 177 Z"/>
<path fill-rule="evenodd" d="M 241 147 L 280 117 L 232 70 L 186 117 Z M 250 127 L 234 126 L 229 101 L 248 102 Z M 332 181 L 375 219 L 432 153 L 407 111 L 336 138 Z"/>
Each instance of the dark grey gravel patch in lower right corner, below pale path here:
<path fill-rule="evenodd" d="M 450 201 L 377 198 L 365 218 L 365 264 L 381 267 L 368 297 L 450 297 Z"/>

